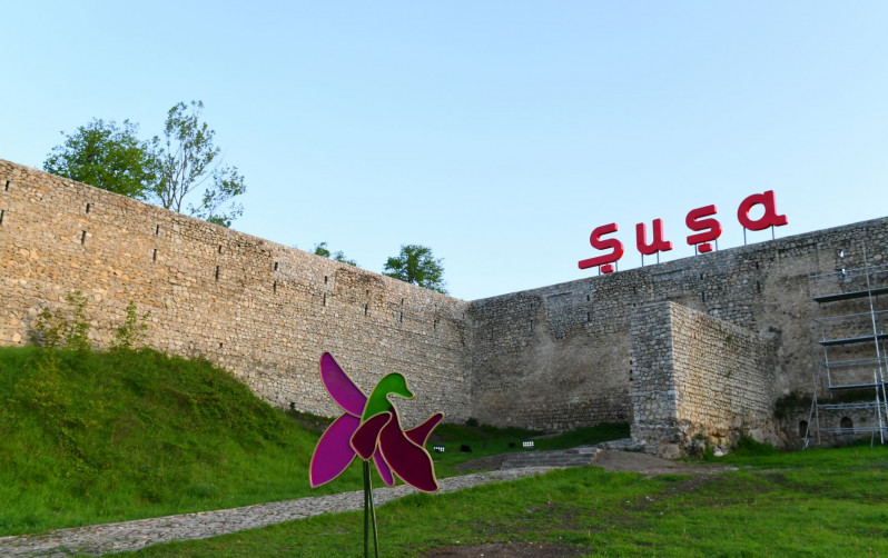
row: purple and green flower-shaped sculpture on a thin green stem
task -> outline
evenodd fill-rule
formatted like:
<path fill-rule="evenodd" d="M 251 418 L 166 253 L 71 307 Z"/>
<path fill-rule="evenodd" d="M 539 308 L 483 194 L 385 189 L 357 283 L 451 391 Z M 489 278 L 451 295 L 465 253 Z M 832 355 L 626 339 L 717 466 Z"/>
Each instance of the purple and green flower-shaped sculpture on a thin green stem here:
<path fill-rule="evenodd" d="M 320 357 L 320 381 L 345 412 L 320 436 L 312 456 L 309 482 L 312 488 L 329 482 L 348 468 L 355 456 L 364 461 L 364 556 L 369 556 L 372 529 L 373 548 L 378 558 L 379 539 L 369 461 L 373 459 L 376 464 L 386 486 L 394 486 L 397 475 L 417 490 L 437 491 L 434 464 L 425 450 L 425 442 L 444 413 L 436 412 L 416 428 L 404 430 L 395 406 L 388 400 L 389 395 L 413 398 L 404 376 L 385 376 L 367 397 L 328 352 Z"/>

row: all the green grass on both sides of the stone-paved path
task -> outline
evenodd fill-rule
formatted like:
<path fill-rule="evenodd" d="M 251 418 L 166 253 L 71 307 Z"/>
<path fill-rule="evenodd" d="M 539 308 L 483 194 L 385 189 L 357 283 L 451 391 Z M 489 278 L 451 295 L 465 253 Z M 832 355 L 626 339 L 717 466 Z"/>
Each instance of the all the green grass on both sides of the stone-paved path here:
<path fill-rule="evenodd" d="M 0 348 L 0 536 L 362 487 L 353 466 L 309 489 L 308 460 L 327 421 L 273 409 L 206 360 Z M 442 425 L 438 476 L 521 451 L 537 434 Z M 624 436 L 625 425 L 601 425 L 536 438 L 536 449 Z M 888 556 L 888 449 L 747 445 L 711 459 L 740 470 L 649 478 L 583 467 L 410 496 L 378 509 L 382 548 L 476 556 L 482 544 L 535 541 L 578 556 Z M 320 516 L 138 554 L 351 557 L 361 554 L 362 525 L 359 512 Z"/>

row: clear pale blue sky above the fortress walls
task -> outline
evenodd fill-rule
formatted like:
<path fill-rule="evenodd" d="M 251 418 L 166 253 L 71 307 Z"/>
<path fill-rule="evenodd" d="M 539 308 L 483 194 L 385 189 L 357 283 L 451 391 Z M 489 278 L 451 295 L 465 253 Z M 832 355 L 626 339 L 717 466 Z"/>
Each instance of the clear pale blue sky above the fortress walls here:
<path fill-rule="evenodd" d="M 234 228 L 381 271 L 402 243 L 466 300 L 580 279 L 589 233 L 734 216 L 785 237 L 888 215 L 888 2 L 0 1 L 0 158 L 91 118 L 159 134 L 200 99 L 245 175 Z M 750 241 L 770 238 L 750 233 Z M 650 261 L 650 259 L 649 259 Z"/>

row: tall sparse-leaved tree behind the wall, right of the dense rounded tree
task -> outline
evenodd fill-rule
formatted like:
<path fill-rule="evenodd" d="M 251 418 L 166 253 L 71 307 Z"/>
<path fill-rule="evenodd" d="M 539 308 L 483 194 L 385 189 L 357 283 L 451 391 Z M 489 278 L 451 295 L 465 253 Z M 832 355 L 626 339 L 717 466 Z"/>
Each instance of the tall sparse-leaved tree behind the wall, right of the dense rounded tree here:
<path fill-rule="evenodd" d="M 151 195 L 167 209 L 229 227 L 244 212 L 234 198 L 243 195 L 246 186 L 237 167 L 221 165 L 221 150 L 214 143 L 216 132 L 200 120 L 203 110 L 203 101 L 179 102 L 169 109 L 164 141 L 154 138 L 158 179 Z M 198 201 L 190 201 L 193 193 Z"/>

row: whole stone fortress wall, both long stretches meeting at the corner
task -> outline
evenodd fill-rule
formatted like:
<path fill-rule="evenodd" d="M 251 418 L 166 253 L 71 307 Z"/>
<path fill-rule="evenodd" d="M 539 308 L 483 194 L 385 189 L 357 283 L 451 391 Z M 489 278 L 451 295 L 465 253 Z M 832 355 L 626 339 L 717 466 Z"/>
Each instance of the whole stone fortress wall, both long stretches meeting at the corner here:
<path fill-rule="evenodd" d="M 0 343 L 27 342 L 37 312 L 79 289 L 98 346 L 134 300 L 151 346 L 205 355 L 280 407 L 337 412 L 317 379 L 327 350 L 365 391 L 404 373 L 420 393 L 407 421 L 443 409 L 542 430 L 638 420 L 633 312 L 662 302 L 771 347 L 748 372 L 771 378 L 768 398 L 810 392 L 809 273 L 862 265 L 864 247 L 870 263 L 888 257 L 882 218 L 466 302 L 3 160 L 0 211 Z M 683 412 L 708 416 L 694 397 Z"/>

